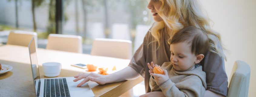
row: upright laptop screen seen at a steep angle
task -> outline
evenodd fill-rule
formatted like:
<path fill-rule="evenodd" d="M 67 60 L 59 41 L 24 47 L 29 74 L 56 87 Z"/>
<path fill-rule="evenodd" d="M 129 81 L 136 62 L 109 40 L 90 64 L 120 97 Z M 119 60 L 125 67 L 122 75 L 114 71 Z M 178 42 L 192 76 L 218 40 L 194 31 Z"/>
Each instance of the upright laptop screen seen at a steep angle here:
<path fill-rule="evenodd" d="M 39 74 L 39 69 L 38 69 L 34 37 L 28 44 L 28 50 L 29 50 L 29 56 L 30 56 L 30 62 L 31 62 L 32 75 L 34 78 L 33 80 L 34 80 L 34 86 L 35 86 L 35 93 L 37 94 L 38 82 L 40 81 L 40 74 Z"/>

